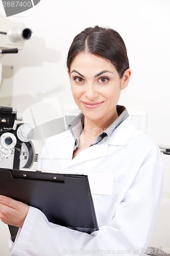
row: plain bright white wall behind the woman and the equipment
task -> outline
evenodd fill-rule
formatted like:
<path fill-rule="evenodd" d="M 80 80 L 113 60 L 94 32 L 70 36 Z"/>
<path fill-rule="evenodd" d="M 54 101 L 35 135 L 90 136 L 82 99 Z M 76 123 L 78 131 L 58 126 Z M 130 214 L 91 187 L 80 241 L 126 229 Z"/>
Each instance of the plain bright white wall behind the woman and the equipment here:
<path fill-rule="evenodd" d="M 10 17 L 25 23 L 34 36 L 18 54 L 0 57 L 4 69 L 0 105 L 24 112 L 53 96 L 62 109 L 65 104 L 74 105 L 65 65 L 70 43 L 88 26 L 107 26 L 124 38 L 133 72 L 119 103 L 130 112 L 147 111 L 147 134 L 158 144 L 170 145 L 169 10 L 169 0 L 41 0 L 34 8 Z M 7 19 L 2 2 L 0 12 L 2 27 Z M 44 113 L 40 114 L 43 118 Z M 151 246 L 170 247 L 170 156 L 162 155 L 162 159 L 164 192 Z M 6 246 L 3 232 L 1 225 L 0 254 Z"/>

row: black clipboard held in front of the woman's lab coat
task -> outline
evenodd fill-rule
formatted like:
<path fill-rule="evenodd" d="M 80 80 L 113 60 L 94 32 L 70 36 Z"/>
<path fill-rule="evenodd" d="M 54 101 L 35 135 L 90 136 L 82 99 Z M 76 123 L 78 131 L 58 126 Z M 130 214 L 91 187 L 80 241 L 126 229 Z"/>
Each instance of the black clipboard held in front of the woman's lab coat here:
<path fill-rule="evenodd" d="M 0 168 L 0 194 L 40 209 L 52 223 L 89 234 L 99 230 L 87 175 Z M 15 241 L 18 228 L 9 229 Z"/>

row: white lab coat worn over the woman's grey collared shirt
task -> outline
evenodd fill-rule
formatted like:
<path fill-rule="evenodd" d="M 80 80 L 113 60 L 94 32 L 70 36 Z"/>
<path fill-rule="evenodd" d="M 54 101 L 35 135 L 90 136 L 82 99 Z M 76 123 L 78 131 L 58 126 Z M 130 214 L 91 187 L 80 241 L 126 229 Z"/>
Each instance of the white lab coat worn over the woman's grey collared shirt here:
<path fill-rule="evenodd" d="M 135 128 L 131 117 L 109 139 L 72 159 L 74 144 L 69 131 L 51 137 L 43 148 L 40 168 L 89 177 L 95 173 L 99 186 L 93 187 L 91 178 L 90 187 L 100 229 L 87 234 L 55 225 L 40 210 L 30 207 L 11 255 L 143 255 L 162 192 L 158 146 Z"/>

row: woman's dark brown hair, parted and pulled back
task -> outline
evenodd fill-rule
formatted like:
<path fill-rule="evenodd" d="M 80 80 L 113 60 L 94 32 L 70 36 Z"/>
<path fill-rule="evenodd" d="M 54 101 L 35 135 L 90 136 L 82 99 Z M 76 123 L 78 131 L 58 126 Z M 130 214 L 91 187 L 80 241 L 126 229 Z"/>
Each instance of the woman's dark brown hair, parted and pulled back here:
<path fill-rule="evenodd" d="M 110 61 L 122 78 L 125 70 L 129 69 L 127 49 L 122 37 L 113 29 L 99 26 L 89 27 L 79 33 L 69 48 L 67 68 L 77 54 L 88 52 Z"/>

